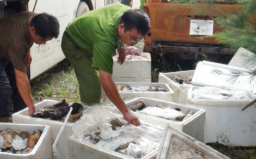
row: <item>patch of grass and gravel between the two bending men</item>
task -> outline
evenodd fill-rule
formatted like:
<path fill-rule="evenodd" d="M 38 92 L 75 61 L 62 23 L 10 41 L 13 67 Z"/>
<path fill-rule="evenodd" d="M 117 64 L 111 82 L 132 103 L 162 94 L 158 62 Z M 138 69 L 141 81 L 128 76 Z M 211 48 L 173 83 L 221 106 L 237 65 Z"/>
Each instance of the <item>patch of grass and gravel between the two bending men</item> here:
<path fill-rule="evenodd" d="M 30 82 L 35 102 L 44 99 L 78 102 L 79 88 L 74 69 L 64 60 L 53 70 L 32 79 Z"/>

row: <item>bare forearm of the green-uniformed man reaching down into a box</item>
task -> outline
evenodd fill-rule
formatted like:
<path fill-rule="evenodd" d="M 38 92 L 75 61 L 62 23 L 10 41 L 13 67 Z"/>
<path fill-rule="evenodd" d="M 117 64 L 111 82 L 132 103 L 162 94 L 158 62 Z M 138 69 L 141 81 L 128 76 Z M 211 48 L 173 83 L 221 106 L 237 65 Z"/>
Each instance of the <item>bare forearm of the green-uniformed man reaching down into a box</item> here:
<path fill-rule="evenodd" d="M 115 107 L 123 114 L 124 120 L 129 124 L 135 126 L 141 125 L 137 116 L 135 116 L 125 105 L 124 101 L 119 95 L 115 83 L 113 82 L 112 75 L 108 72 L 99 70 L 100 83 L 105 91 L 107 97 L 114 103 Z"/>

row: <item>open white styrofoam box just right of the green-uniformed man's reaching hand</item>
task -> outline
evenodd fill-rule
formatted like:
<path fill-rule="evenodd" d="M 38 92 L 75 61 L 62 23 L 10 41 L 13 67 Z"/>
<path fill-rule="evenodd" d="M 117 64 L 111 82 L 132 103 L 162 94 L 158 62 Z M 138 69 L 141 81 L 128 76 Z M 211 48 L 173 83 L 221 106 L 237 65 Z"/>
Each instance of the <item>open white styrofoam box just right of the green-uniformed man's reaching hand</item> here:
<path fill-rule="evenodd" d="M 146 115 L 138 112 L 133 112 L 141 121 L 149 122 L 149 124 L 161 126 L 165 128 L 167 124 L 172 127 L 185 132 L 191 137 L 196 138 L 199 141 L 203 141 L 204 136 L 204 122 L 205 122 L 205 111 L 203 109 L 189 107 L 187 105 L 182 105 L 173 102 L 166 102 L 162 100 L 155 100 L 150 98 L 136 98 L 129 102 L 125 102 L 127 107 L 130 105 L 135 105 L 139 100 L 143 100 L 147 107 L 156 107 L 156 104 L 161 104 L 164 107 L 179 108 L 182 113 L 186 113 L 188 110 L 192 110 L 195 114 L 189 117 L 187 120 L 182 122 L 176 122 L 167 120 L 165 118 L 160 118 L 156 116 Z"/>

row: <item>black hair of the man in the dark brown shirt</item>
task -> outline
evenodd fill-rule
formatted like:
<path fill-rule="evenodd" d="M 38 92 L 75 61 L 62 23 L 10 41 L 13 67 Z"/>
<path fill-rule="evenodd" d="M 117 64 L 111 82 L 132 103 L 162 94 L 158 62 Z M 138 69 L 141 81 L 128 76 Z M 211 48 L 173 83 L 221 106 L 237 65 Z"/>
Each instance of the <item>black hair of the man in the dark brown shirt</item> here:
<path fill-rule="evenodd" d="M 42 38 L 55 37 L 60 34 L 60 24 L 56 17 L 47 13 L 41 13 L 33 17 L 30 26 L 34 27 L 36 35 Z"/>

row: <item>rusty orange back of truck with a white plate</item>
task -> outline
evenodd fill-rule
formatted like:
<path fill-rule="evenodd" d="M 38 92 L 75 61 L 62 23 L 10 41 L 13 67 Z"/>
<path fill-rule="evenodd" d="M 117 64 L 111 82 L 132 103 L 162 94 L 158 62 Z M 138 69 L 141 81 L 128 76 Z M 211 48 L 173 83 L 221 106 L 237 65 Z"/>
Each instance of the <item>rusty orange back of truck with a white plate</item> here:
<path fill-rule="evenodd" d="M 225 29 L 215 21 L 216 17 L 226 18 L 242 6 L 234 4 L 235 1 L 214 1 L 211 5 L 200 2 L 181 4 L 147 0 L 144 10 L 150 18 L 151 30 L 146 36 L 144 50 L 188 60 L 202 54 L 234 55 L 236 50 L 225 48 L 210 36 Z"/>

